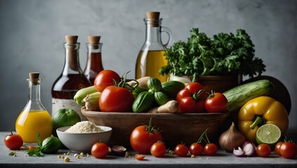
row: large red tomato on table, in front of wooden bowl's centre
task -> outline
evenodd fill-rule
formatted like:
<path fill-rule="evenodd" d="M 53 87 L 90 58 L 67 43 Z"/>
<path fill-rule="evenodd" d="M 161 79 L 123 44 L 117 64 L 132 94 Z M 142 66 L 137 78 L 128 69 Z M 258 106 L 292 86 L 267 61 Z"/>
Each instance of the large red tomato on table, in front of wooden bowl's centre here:
<path fill-rule="evenodd" d="M 151 120 L 148 126 L 140 125 L 134 128 L 130 135 L 131 147 L 141 154 L 150 153 L 151 146 L 157 141 L 163 141 L 163 137 L 158 130 L 153 129 Z"/>

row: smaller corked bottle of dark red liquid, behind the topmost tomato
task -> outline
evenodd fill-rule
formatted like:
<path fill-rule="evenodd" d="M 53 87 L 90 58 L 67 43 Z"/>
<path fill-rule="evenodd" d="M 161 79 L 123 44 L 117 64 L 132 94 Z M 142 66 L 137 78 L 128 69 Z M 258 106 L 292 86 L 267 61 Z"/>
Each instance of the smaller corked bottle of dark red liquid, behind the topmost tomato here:
<path fill-rule="evenodd" d="M 88 36 L 89 43 L 85 43 L 88 48 L 87 64 L 83 73 L 94 85 L 94 80 L 97 74 L 103 70 L 101 48 L 102 43 L 99 43 L 100 36 Z"/>

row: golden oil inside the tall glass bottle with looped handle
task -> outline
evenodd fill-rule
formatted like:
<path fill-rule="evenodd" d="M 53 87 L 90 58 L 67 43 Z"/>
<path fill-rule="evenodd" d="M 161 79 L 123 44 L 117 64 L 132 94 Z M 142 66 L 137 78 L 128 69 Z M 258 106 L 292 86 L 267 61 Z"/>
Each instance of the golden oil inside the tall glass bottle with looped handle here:
<path fill-rule="evenodd" d="M 168 62 L 164 54 L 165 50 L 141 50 L 137 57 L 135 78 L 151 76 L 158 78 L 161 83 L 167 81 L 167 76 L 159 73 L 161 67 Z"/>

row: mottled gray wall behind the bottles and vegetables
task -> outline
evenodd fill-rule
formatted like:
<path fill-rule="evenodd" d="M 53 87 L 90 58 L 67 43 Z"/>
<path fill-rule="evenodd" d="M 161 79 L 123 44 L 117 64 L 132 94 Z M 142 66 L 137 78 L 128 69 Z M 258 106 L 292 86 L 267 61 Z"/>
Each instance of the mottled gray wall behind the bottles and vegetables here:
<path fill-rule="evenodd" d="M 50 88 L 64 64 L 64 35 L 77 34 L 81 66 L 85 66 L 87 36 L 101 35 L 105 69 L 131 71 L 144 42 L 145 12 L 158 10 L 174 39 L 186 40 L 193 27 L 207 35 L 245 29 L 256 45 L 256 57 L 266 64 L 264 75 L 288 88 L 292 108 L 290 129 L 296 129 L 297 27 L 295 0 L 0 0 L 0 131 L 15 129 L 27 102 L 30 71 L 40 71 L 41 99 L 51 110 Z"/>

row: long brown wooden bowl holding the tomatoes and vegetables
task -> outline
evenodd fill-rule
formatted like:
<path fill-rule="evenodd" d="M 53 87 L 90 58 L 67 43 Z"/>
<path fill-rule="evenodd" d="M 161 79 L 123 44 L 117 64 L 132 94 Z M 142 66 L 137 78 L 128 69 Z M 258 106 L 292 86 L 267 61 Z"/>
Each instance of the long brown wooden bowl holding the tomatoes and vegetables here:
<path fill-rule="evenodd" d="M 113 132 L 109 145 L 130 146 L 130 134 L 135 127 L 152 125 L 162 130 L 163 141 L 169 146 L 175 146 L 181 141 L 191 145 L 198 141 L 202 132 L 207 130 L 207 137 L 217 137 L 224 121 L 230 115 L 226 113 L 116 113 L 87 111 L 83 107 L 81 113 L 96 125 L 111 127 Z"/>

